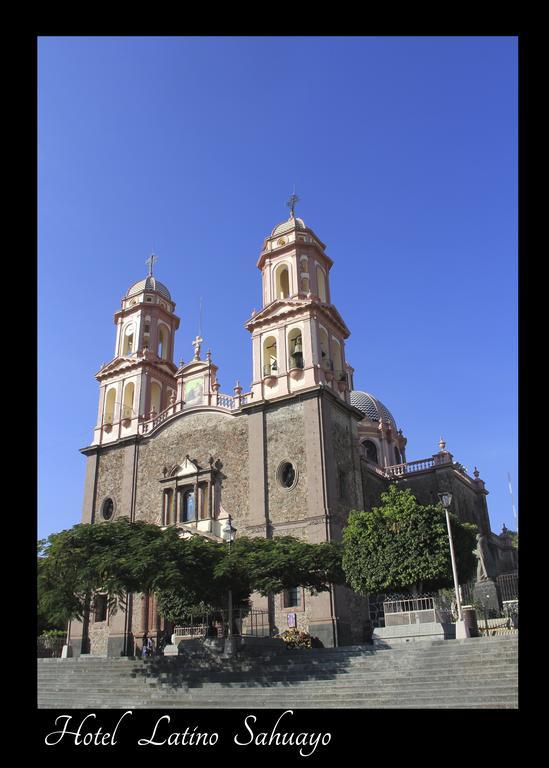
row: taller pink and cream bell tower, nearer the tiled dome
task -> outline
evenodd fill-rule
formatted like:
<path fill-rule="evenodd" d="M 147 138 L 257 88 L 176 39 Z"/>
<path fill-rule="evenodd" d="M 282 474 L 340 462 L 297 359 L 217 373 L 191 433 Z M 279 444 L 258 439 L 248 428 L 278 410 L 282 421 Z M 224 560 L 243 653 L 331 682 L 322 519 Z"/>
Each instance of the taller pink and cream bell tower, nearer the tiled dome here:
<path fill-rule="evenodd" d="M 352 369 L 345 359 L 350 335 L 331 303 L 326 246 L 296 217 L 265 238 L 257 267 L 261 270 L 263 308 L 246 323 L 252 334 L 254 402 L 323 385 L 349 402 Z"/>

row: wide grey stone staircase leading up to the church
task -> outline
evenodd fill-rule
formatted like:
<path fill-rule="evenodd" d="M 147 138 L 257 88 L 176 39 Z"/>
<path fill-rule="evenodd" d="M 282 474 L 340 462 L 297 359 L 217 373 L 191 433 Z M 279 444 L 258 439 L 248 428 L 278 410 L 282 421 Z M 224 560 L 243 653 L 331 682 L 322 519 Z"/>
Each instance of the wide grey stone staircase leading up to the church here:
<path fill-rule="evenodd" d="M 516 709 L 518 637 L 269 649 L 221 658 L 38 659 L 38 706 L 100 708 Z"/>

